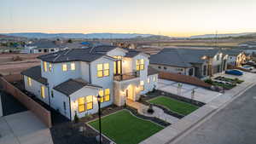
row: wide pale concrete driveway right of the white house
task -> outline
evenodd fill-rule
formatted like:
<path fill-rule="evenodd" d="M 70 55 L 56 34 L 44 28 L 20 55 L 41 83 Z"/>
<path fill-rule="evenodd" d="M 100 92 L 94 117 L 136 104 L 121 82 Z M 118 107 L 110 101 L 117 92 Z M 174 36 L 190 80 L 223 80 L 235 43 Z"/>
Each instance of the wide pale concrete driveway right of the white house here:
<path fill-rule="evenodd" d="M 221 93 L 209 90 L 209 89 L 203 89 L 201 87 L 197 87 L 195 85 L 190 84 L 182 84 L 182 89 L 180 91 L 177 90 L 178 84 L 171 80 L 166 79 L 159 79 L 158 80 L 158 89 L 162 91 L 166 91 L 171 94 L 180 95 L 186 98 L 191 99 L 191 92 L 193 89 L 195 89 L 195 96 L 194 100 L 201 101 L 204 103 L 208 103 L 212 101 L 213 99 L 217 98 L 219 95 L 222 95 Z"/>

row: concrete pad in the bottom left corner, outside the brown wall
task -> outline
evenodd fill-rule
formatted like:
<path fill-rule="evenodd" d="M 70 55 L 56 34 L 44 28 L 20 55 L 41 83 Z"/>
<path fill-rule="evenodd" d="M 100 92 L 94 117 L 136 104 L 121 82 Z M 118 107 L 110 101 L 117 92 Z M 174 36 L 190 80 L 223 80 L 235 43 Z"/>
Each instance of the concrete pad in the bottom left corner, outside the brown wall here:
<path fill-rule="evenodd" d="M 30 111 L 0 118 L 0 144 L 53 144 L 50 131 Z"/>

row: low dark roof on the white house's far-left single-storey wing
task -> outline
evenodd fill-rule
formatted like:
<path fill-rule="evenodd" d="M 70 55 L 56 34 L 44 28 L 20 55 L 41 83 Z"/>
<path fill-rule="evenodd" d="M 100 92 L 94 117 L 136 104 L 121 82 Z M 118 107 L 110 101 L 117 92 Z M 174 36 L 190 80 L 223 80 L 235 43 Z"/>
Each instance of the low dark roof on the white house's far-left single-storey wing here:
<path fill-rule="evenodd" d="M 44 84 L 44 85 L 47 84 L 47 79 L 41 76 L 41 66 L 33 66 L 20 73 L 22 75 L 32 78 L 33 80 L 41 84 Z"/>

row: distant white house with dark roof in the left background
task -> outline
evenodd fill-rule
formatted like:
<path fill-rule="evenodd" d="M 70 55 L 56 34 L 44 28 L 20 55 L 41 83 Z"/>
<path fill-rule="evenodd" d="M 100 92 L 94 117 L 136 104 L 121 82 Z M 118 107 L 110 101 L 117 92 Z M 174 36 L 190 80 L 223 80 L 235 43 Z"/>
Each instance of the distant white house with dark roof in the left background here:
<path fill-rule="evenodd" d="M 25 45 L 21 53 L 54 53 L 60 50 L 60 46 L 50 40 L 38 40 Z"/>

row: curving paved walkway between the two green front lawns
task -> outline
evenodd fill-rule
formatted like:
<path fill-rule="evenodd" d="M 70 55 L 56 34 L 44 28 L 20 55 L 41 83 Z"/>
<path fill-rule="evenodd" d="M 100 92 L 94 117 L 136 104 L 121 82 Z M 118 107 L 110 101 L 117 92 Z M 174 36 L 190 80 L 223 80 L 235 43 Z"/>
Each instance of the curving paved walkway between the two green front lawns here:
<path fill-rule="evenodd" d="M 177 123 L 177 121 L 179 120 L 178 118 L 175 118 L 169 114 L 166 114 L 161 108 L 159 107 L 154 107 L 153 106 L 153 109 L 154 109 L 154 113 L 153 114 L 149 114 L 147 112 L 148 110 L 148 106 L 146 105 L 143 105 L 142 103 L 140 102 L 137 102 L 137 101 L 126 101 L 126 104 L 130 107 L 133 107 L 133 108 L 136 108 L 137 109 L 137 112 L 140 113 L 140 114 L 143 114 L 144 116 L 147 116 L 147 117 L 155 117 L 155 118 L 160 118 L 170 124 L 174 124 L 174 123 Z"/>

